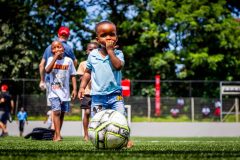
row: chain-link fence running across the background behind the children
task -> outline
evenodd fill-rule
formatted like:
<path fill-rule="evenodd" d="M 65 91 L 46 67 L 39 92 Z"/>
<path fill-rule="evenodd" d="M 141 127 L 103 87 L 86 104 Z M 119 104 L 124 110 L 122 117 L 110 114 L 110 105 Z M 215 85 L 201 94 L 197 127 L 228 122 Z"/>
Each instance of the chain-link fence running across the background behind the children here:
<path fill-rule="evenodd" d="M 220 121 L 216 114 L 216 101 L 219 100 L 219 81 L 161 81 L 161 115 L 155 115 L 154 81 L 131 81 L 131 96 L 125 97 L 125 104 L 131 105 L 132 117 L 146 117 L 148 119 L 170 118 L 184 121 Z M 9 86 L 16 107 L 15 114 L 24 107 L 29 116 L 45 116 L 47 110 L 45 91 L 38 87 L 36 79 L 4 79 L 1 84 Z M 144 92 L 145 89 L 145 92 Z M 146 90 L 147 89 L 147 90 Z M 147 91 L 147 92 L 146 92 Z M 153 92 L 153 93 L 152 93 Z M 209 97 L 208 95 L 212 95 Z M 223 98 L 221 111 L 228 113 L 228 118 L 235 121 L 235 97 Z M 71 102 L 70 115 L 80 114 L 79 100 Z M 208 114 L 203 114 L 203 108 L 208 108 Z M 233 109 L 232 109 L 233 108 Z M 231 112 L 229 112 L 231 110 Z M 175 114 L 174 114 L 175 113 Z M 223 115 L 224 118 L 225 115 Z M 172 120 L 171 119 L 171 120 Z"/>

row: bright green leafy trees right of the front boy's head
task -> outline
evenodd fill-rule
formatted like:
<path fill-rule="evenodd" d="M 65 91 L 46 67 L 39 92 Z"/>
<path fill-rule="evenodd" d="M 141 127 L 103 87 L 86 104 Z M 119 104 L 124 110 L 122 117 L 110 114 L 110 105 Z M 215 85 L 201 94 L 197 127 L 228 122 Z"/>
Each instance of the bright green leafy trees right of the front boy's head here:
<path fill-rule="evenodd" d="M 126 59 L 125 77 L 154 79 L 155 74 L 161 74 L 163 80 L 238 79 L 240 26 L 232 15 L 233 11 L 237 15 L 236 3 L 225 0 L 134 1 L 130 6 L 127 3 L 103 4 L 109 13 L 107 18 L 118 26 Z"/>

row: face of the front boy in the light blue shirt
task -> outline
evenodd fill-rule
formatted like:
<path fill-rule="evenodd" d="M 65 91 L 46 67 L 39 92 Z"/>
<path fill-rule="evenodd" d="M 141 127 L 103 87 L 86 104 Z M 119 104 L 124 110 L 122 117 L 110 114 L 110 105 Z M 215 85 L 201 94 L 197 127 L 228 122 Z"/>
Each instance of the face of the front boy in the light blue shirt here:
<path fill-rule="evenodd" d="M 117 30 L 113 24 L 104 23 L 97 28 L 97 41 L 102 47 L 106 47 L 106 42 L 117 43 Z"/>

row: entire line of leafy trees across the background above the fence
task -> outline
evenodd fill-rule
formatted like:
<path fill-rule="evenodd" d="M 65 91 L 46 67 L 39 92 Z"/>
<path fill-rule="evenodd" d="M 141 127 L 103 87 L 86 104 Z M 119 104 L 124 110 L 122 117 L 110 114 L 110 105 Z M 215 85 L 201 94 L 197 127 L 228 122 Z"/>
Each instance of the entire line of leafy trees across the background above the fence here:
<path fill-rule="evenodd" d="M 39 78 L 44 49 L 61 25 L 79 61 L 94 26 L 118 27 L 123 78 L 227 80 L 240 76 L 237 0 L 1 0 L 0 78 Z"/>

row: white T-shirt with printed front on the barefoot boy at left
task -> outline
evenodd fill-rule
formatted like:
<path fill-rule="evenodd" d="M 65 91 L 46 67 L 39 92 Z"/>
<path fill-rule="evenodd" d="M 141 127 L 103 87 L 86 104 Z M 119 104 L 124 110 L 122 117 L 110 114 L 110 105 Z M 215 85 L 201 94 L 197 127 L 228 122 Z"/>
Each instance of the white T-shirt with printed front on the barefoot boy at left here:
<path fill-rule="evenodd" d="M 49 57 L 46 68 L 51 63 L 53 57 Z M 48 98 L 59 97 L 61 101 L 70 101 L 69 81 L 72 75 L 76 75 L 73 61 L 69 57 L 56 60 L 50 77 L 50 91 Z"/>

